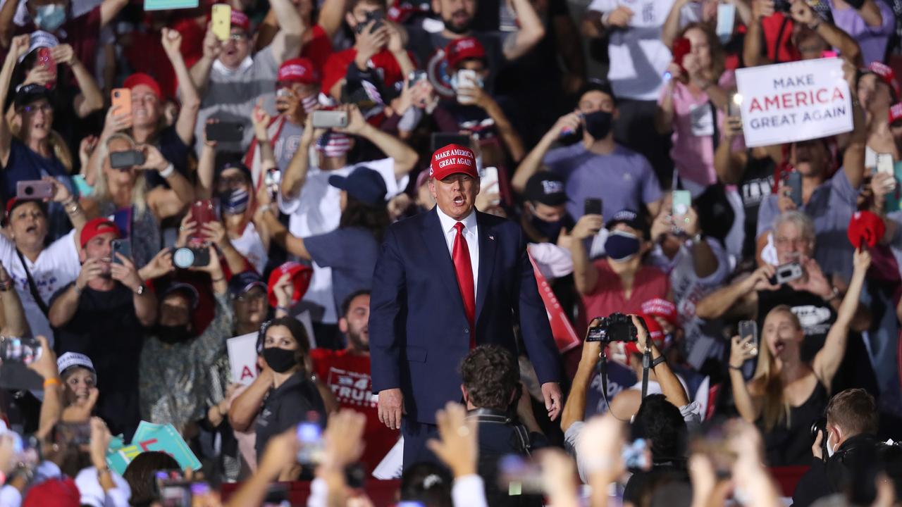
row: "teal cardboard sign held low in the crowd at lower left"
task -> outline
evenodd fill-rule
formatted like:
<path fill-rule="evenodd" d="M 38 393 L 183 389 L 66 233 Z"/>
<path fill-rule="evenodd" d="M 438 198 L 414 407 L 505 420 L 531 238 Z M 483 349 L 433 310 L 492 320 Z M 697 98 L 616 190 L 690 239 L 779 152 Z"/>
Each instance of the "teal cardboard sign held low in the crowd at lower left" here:
<path fill-rule="evenodd" d="M 183 471 L 189 468 L 200 470 L 198 456 L 194 456 L 185 439 L 171 424 L 153 424 L 146 420 L 138 425 L 128 446 L 123 446 L 121 438 L 110 441 L 110 447 L 106 449 L 106 465 L 116 474 L 123 475 L 134 457 L 147 451 L 161 451 L 172 456 Z"/>

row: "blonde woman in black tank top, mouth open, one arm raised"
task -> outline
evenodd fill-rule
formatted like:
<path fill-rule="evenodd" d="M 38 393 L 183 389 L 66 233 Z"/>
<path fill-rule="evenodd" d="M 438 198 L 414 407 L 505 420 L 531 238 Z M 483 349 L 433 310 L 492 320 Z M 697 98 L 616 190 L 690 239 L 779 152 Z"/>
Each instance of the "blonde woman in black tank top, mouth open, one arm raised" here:
<path fill-rule="evenodd" d="M 757 423 L 764 434 L 769 466 L 806 465 L 811 461 L 811 423 L 823 416 L 830 399 L 833 377 L 845 355 L 849 325 L 870 266 L 870 253 L 857 251 L 854 264 L 836 321 L 810 364 L 801 355 L 805 331 L 786 305 L 771 309 L 764 318 L 757 347 L 750 336 L 732 338 L 733 400 L 742 419 Z M 742 364 L 756 355 L 758 366 L 746 382 Z"/>

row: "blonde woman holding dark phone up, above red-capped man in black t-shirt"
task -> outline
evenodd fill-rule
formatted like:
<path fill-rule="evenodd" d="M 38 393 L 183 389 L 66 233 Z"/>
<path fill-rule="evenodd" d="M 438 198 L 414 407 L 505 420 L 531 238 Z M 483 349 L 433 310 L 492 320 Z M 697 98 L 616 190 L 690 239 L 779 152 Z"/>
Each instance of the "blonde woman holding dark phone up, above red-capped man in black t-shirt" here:
<path fill-rule="evenodd" d="M 94 191 L 82 199 L 82 205 L 88 217 L 115 217 L 123 235 L 131 240 L 134 264 L 143 266 L 162 247 L 160 222 L 181 213 L 194 199 L 194 189 L 160 150 L 152 144 L 135 143 L 128 134 L 108 136 L 97 150 Z M 142 164 L 113 167 L 112 153 L 132 151 L 142 154 Z M 157 172 L 169 188 L 148 189 L 146 171 Z"/>

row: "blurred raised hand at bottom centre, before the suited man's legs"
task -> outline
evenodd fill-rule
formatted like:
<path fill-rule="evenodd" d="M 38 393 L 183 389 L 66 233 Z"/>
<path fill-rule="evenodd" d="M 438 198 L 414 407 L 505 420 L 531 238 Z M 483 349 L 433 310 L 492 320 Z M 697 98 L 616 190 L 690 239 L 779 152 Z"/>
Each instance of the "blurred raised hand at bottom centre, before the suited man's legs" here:
<path fill-rule="evenodd" d="M 448 401 L 445 410 L 436 413 L 436 424 L 441 439 L 430 439 L 426 443 L 429 450 L 451 469 L 455 477 L 474 475 L 479 457 L 476 419 L 466 419 L 464 406 Z"/>

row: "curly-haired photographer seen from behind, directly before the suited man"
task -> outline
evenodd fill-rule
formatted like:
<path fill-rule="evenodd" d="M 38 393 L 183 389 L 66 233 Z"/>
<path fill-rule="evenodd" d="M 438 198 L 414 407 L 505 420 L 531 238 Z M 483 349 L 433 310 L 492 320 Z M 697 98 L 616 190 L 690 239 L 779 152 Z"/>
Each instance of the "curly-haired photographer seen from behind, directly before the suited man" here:
<path fill-rule="evenodd" d="M 500 346 L 477 346 L 464 358 L 460 374 L 464 380 L 460 390 L 468 410 L 466 417 L 476 419 L 479 428 L 478 472 L 485 479 L 488 504 L 542 505 L 541 496 L 509 496 L 495 480 L 502 456 L 528 456 L 532 450 L 548 445 L 532 414 L 529 393 L 521 394 L 517 360 Z"/>

